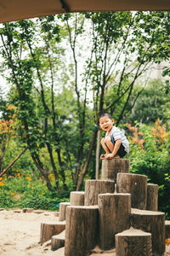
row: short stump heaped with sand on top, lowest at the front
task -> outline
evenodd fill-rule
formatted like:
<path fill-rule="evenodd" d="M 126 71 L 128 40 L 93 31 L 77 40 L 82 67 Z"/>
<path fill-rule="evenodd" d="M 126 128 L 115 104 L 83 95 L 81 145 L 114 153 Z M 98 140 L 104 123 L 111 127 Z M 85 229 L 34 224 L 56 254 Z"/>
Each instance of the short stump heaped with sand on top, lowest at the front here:
<path fill-rule="evenodd" d="M 151 234 L 132 227 L 116 234 L 116 256 L 152 256 Z"/>

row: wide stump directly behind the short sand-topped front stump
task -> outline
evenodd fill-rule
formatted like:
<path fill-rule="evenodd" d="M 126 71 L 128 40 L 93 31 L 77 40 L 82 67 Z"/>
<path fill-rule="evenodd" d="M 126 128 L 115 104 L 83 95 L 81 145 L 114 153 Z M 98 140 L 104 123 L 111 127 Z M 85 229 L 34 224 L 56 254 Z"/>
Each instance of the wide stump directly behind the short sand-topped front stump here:
<path fill-rule="evenodd" d="M 131 224 L 135 229 L 150 232 L 152 236 L 152 253 L 163 255 L 165 252 L 165 214 L 138 209 L 131 210 Z"/>

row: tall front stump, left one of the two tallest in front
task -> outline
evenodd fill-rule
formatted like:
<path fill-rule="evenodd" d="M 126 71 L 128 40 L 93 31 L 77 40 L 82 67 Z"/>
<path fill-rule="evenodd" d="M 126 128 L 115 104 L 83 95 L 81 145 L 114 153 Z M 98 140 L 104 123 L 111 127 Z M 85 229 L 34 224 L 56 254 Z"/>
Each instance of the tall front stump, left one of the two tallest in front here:
<path fill-rule="evenodd" d="M 97 244 L 99 207 L 67 207 L 65 256 L 85 256 Z"/>

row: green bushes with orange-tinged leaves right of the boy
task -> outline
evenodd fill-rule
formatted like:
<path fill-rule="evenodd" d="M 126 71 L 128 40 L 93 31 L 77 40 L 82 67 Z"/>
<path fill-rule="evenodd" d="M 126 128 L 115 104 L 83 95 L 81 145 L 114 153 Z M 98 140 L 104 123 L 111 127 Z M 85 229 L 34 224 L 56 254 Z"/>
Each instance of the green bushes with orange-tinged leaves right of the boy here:
<path fill-rule="evenodd" d="M 170 132 L 166 131 L 165 125 L 156 121 L 155 127 L 139 125 L 141 138 L 137 138 L 136 131 L 133 131 L 131 140 L 130 171 L 144 174 L 148 177 L 149 183 L 159 185 L 159 210 L 166 212 L 170 218 Z"/>

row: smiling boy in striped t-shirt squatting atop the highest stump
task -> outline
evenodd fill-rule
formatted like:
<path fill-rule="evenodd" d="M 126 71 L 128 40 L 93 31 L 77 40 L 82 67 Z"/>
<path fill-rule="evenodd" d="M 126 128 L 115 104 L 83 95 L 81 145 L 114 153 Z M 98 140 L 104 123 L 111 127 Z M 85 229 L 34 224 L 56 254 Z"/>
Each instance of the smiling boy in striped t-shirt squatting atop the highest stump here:
<path fill-rule="evenodd" d="M 106 154 L 101 154 L 100 159 L 120 158 L 129 153 L 127 137 L 113 124 L 114 119 L 110 113 L 99 115 L 99 126 L 106 131 L 105 137 L 101 139 Z"/>

